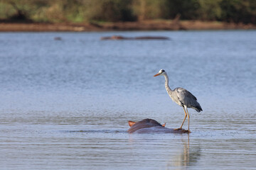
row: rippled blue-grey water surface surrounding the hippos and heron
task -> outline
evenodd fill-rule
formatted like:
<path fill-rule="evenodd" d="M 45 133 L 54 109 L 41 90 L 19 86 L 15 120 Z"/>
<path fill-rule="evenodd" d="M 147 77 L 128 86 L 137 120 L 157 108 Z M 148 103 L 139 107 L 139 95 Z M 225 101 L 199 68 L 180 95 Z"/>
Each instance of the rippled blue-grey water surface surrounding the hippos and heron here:
<path fill-rule="evenodd" d="M 255 30 L 0 33 L 0 169 L 255 169 L 255 45 Z M 181 125 L 159 69 L 201 103 L 189 135 L 127 133 Z"/>

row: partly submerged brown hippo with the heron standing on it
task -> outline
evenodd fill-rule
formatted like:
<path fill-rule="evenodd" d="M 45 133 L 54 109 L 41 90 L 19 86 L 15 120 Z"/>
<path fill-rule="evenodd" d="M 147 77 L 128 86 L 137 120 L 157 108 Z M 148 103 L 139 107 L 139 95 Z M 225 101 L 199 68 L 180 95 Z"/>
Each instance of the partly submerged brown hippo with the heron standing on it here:
<path fill-rule="evenodd" d="M 137 123 L 129 121 L 129 133 L 188 133 L 188 130 L 174 130 L 165 128 L 165 124 L 161 125 L 156 120 L 153 119 L 144 119 Z"/>

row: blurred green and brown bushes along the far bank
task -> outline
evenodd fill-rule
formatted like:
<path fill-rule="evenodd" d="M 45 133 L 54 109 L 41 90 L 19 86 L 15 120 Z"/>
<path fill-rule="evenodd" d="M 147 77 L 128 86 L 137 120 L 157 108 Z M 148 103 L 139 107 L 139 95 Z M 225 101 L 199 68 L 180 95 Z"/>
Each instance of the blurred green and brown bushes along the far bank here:
<path fill-rule="evenodd" d="M 0 19 L 117 22 L 151 19 L 256 23 L 255 0 L 0 0 Z"/>

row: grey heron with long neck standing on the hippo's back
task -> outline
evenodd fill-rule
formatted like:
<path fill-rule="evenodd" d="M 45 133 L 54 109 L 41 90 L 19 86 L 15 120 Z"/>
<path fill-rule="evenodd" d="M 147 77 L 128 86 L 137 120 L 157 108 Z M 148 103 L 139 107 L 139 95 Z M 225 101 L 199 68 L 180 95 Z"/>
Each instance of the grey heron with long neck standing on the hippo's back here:
<path fill-rule="evenodd" d="M 186 120 L 186 117 L 188 116 L 188 130 L 189 130 L 189 114 L 188 114 L 188 108 L 193 108 L 198 112 L 203 111 L 200 104 L 197 102 L 197 99 L 191 92 L 187 91 L 186 89 L 183 89 L 181 87 L 177 87 L 174 90 L 171 90 L 169 87 L 169 77 L 167 76 L 164 69 L 160 69 L 160 71 L 154 75 L 154 77 L 157 76 L 164 76 L 165 78 L 165 88 L 171 99 L 177 103 L 179 106 L 181 106 L 185 112 L 185 117 L 183 119 L 183 122 L 181 124 L 181 128 L 183 126 L 184 121 Z M 180 130 L 181 128 L 177 128 L 176 130 Z"/>

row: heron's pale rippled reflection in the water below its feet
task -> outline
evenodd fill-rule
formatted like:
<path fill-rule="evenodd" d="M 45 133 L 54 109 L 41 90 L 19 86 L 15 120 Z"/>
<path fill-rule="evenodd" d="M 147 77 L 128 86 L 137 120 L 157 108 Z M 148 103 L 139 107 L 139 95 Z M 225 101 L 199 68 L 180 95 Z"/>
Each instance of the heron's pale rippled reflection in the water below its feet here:
<path fill-rule="evenodd" d="M 188 141 L 183 142 L 183 151 L 178 152 L 174 158 L 171 158 L 166 169 L 173 168 L 174 166 L 180 167 L 181 169 L 187 166 L 193 166 L 199 157 L 201 157 L 200 145 L 190 146 L 188 135 Z"/>

